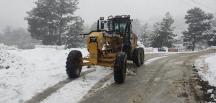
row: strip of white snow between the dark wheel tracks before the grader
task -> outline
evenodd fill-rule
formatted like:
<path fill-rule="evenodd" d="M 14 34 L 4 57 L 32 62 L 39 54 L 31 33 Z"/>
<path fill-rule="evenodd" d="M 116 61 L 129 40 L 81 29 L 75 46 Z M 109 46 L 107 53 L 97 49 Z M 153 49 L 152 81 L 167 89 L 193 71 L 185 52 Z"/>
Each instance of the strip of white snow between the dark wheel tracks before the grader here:
<path fill-rule="evenodd" d="M 112 73 L 110 68 L 97 67 L 96 72 L 87 74 L 85 79 L 79 78 L 67 84 L 42 103 L 77 103 L 98 81 L 110 73 Z"/>

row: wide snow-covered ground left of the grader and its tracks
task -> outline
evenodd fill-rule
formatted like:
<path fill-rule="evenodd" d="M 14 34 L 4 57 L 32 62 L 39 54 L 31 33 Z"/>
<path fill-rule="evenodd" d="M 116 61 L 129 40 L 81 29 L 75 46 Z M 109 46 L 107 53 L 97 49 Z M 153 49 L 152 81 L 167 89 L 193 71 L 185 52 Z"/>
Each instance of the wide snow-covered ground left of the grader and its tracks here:
<path fill-rule="evenodd" d="M 78 49 L 86 54 L 85 49 Z M 69 50 L 0 50 L 0 103 L 18 103 L 67 78 Z M 2 63 L 3 61 L 3 63 Z M 9 66 L 8 69 L 6 69 Z"/>

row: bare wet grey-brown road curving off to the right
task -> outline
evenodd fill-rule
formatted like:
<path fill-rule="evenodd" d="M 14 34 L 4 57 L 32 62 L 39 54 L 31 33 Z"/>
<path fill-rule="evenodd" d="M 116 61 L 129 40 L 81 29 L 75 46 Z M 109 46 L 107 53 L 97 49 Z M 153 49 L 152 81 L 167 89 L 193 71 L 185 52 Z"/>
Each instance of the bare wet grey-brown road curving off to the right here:
<path fill-rule="evenodd" d="M 144 65 L 122 85 L 112 84 L 80 103 L 202 103 L 194 90 L 194 61 L 215 50 L 172 54 Z M 161 56 L 148 54 L 147 59 Z"/>

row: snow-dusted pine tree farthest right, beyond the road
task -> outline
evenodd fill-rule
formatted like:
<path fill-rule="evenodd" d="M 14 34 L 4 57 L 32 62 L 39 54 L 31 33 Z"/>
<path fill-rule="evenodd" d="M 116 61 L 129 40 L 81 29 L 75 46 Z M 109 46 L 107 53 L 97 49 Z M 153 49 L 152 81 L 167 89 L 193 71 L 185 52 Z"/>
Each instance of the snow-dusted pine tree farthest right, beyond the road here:
<path fill-rule="evenodd" d="M 191 49 L 194 51 L 196 43 L 204 39 L 204 33 L 211 29 L 211 19 L 213 15 L 205 13 L 200 8 L 192 8 L 187 11 L 185 16 L 188 30 L 184 31 L 184 42 L 191 44 Z"/>

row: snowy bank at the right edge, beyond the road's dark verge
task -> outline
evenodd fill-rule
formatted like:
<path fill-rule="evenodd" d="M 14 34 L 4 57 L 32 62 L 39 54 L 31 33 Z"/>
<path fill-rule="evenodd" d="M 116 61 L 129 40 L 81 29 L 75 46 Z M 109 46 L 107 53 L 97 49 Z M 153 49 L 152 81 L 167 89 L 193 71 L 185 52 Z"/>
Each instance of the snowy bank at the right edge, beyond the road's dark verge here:
<path fill-rule="evenodd" d="M 201 78 L 211 86 L 216 86 L 216 54 L 202 56 L 195 65 Z"/>

